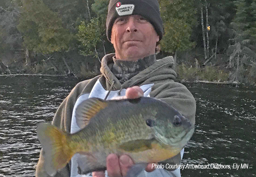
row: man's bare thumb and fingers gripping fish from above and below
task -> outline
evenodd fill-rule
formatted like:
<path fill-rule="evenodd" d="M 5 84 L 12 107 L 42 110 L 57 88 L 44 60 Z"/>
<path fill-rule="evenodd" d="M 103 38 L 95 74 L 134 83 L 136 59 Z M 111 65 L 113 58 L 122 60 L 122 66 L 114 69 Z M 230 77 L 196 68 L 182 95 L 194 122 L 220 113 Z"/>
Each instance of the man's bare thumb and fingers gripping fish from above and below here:
<path fill-rule="evenodd" d="M 133 86 L 126 90 L 126 96 L 116 97 L 114 99 L 134 99 L 143 97 L 143 90 L 139 86 Z M 122 177 L 126 176 L 130 167 L 134 165 L 133 160 L 128 155 L 121 155 L 118 157 L 116 154 L 107 156 L 107 173 L 109 177 Z M 147 172 L 155 170 L 152 169 L 152 164 L 148 164 L 145 169 Z M 104 171 L 92 172 L 93 177 L 105 177 Z"/>

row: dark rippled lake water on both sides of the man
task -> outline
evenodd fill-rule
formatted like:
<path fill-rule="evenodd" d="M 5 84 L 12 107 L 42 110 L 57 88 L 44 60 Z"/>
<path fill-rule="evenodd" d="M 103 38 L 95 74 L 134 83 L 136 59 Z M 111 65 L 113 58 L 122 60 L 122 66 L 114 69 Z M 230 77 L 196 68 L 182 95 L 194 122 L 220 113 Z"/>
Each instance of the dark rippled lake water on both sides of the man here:
<path fill-rule="evenodd" d="M 36 127 L 52 121 L 76 83 L 64 77 L 0 76 L 0 177 L 34 176 L 41 149 Z M 197 114 L 182 176 L 256 176 L 256 88 L 186 86 L 196 99 Z M 209 169 L 193 166 L 198 164 Z M 222 169 L 216 169 L 220 164 Z M 233 169 L 233 164 L 240 166 Z M 241 169 L 241 164 L 248 168 Z"/>

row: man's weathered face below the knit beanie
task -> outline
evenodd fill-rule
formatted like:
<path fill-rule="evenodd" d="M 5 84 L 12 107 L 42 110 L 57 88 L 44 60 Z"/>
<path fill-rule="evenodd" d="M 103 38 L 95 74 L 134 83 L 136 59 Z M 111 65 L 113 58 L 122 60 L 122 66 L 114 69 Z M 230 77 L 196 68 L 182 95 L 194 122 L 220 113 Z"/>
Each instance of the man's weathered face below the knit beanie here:
<path fill-rule="evenodd" d="M 151 23 L 140 15 L 118 17 L 111 31 L 116 58 L 137 61 L 155 53 L 159 36 Z"/>

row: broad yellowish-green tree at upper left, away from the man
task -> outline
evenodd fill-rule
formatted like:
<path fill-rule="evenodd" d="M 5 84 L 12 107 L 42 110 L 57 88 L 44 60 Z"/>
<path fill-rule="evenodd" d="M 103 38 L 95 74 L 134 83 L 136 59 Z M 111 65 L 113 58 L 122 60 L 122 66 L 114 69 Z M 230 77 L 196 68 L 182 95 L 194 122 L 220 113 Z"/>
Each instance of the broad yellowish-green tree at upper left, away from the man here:
<path fill-rule="evenodd" d="M 72 35 L 62 27 L 56 12 L 42 0 L 22 0 L 18 29 L 23 34 L 26 48 L 42 53 L 69 50 Z"/>

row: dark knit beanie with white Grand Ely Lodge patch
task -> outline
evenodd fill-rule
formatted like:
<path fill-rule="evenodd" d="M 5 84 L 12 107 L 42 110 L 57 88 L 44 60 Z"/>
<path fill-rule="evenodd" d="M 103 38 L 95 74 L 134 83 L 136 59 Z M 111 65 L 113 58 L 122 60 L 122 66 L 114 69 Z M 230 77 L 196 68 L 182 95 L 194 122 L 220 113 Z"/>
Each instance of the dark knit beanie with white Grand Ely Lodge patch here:
<path fill-rule="evenodd" d="M 109 41 L 111 41 L 111 30 L 114 21 L 124 15 L 141 15 L 146 18 L 155 28 L 159 40 L 162 39 L 164 28 L 158 0 L 110 0 L 106 22 Z"/>

